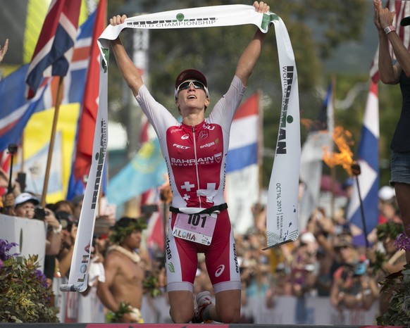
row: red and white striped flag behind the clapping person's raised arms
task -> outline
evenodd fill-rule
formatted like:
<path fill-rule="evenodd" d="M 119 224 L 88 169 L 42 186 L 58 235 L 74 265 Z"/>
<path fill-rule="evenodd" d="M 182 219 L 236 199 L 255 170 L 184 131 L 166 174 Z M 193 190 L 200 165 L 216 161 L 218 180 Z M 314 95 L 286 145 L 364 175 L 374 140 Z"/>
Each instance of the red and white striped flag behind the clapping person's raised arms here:
<path fill-rule="evenodd" d="M 409 27 L 404 27 L 400 25 L 400 21 L 407 16 L 410 16 L 410 1 L 401 0 L 388 0 L 386 8 L 390 11 L 395 11 L 395 20 L 393 20 L 393 25 L 396 27 L 396 32 L 407 50 L 410 50 L 410 29 Z M 393 53 L 392 45 L 389 43 L 390 56 L 392 60 L 396 59 L 395 53 Z M 379 75 L 379 47 L 375 52 L 373 61 L 370 68 L 370 76 L 373 83 L 377 83 L 380 79 Z"/>

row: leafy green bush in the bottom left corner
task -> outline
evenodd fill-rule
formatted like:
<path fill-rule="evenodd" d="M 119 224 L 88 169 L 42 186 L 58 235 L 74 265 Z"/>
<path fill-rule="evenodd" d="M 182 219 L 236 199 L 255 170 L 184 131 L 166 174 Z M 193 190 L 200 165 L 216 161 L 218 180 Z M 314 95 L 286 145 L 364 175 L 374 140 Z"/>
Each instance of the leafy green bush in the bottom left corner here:
<path fill-rule="evenodd" d="M 0 322 L 58 322 L 38 256 L 17 258 L 8 253 L 11 244 L 0 244 Z"/>

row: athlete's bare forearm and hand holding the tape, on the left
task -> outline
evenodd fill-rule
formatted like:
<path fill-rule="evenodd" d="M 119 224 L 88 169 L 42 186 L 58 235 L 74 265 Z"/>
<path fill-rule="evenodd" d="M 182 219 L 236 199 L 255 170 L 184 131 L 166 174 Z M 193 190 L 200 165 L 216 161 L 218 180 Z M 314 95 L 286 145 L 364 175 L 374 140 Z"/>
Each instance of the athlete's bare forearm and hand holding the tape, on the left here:
<path fill-rule="evenodd" d="M 111 25 L 119 25 L 124 23 L 126 15 L 116 15 L 110 18 Z M 130 57 L 123 44 L 121 43 L 120 37 L 111 41 L 111 48 L 113 49 L 114 56 L 116 57 L 118 68 L 124 77 L 125 82 L 127 82 L 128 87 L 130 87 L 132 94 L 137 96 L 139 88 L 142 87 L 144 82 L 142 81 L 141 74 L 138 68 L 132 63 Z"/>

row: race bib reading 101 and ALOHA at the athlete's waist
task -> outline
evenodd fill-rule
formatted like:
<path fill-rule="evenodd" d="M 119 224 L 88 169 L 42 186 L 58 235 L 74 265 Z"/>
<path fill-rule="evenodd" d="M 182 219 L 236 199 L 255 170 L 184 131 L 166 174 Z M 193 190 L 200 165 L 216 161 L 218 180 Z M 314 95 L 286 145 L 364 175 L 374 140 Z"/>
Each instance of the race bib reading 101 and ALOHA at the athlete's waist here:
<path fill-rule="evenodd" d="M 194 241 L 198 244 L 211 245 L 216 217 L 209 214 L 178 213 L 175 219 L 173 235 L 180 239 Z"/>

